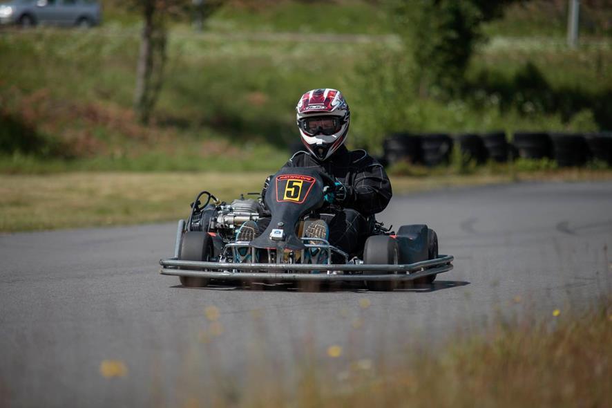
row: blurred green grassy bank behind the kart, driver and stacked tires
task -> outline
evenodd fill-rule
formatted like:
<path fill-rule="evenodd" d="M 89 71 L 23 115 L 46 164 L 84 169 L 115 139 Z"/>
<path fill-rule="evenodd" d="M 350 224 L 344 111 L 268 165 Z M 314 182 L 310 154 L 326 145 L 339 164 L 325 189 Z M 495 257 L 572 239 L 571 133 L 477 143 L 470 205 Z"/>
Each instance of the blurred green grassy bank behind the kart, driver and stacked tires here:
<path fill-rule="evenodd" d="M 535 3 L 528 15 L 539 20 L 528 24 L 537 30 L 548 23 L 541 18 L 546 7 Z M 532 37 L 512 37 L 488 26 L 497 37 L 473 60 L 470 91 L 449 102 L 403 89 L 407 50 L 392 36 L 321 41 L 329 33 L 390 33 L 376 3 L 241 4 L 222 8 L 203 34 L 173 26 L 166 81 L 148 127 L 131 109 L 138 30 L 119 18 L 117 2 L 105 3 L 108 24 L 95 30 L 3 30 L 0 129 L 10 123 L 12 130 L 0 131 L 0 171 L 273 169 L 298 138 L 298 96 L 319 86 L 343 90 L 353 113 L 349 144 L 374 153 L 390 131 L 610 125 L 612 52 L 601 35 L 571 51 L 562 36 L 542 40 L 526 30 Z M 499 24 L 519 26 L 524 13 L 509 10 Z M 287 31 L 298 35 L 258 35 Z M 16 147 L 24 131 L 37 149 Z"/>

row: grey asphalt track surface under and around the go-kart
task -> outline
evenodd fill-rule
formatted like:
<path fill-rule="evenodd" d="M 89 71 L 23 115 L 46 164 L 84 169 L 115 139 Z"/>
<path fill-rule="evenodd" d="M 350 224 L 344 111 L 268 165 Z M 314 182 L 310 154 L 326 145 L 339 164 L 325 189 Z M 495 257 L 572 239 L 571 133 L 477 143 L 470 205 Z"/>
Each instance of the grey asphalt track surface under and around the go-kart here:
<path fill-rule="evenodd" d="M 428 223 L 455 270 L 394 293 L 189 289 L 158 275 L 174 223 L 0 235 L 0 406 L 182 405 L 210 387 L 290 378 L 305 350 L 329 359 L 341 346 L 341 370 L 500 315 L 559 319 L 612 289 L 610 182 L 395 197 L 379 219 Z M 123 362 L 124 376 L 101 375 L 104 360 Z"/>

